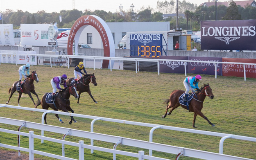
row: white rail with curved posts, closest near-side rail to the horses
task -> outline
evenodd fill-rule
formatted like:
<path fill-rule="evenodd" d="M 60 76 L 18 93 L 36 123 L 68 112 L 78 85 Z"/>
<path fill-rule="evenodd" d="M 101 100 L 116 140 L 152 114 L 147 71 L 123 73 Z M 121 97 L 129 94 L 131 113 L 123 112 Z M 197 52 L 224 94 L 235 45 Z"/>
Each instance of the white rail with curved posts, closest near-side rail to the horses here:
<path fill-rule="evenodd" d="M 152 129 L 150 130 L 150 139 L 149 139 L 150 142 L 152 142 L 153 132 L 157 128 L 167 129 L 167 130 L 172 130 L 172 131 L 182 131 L 182 132 L 188 132 L 188 133 L 196 133 L 196 134 L 202 134 L 202 135 L 211 135 L 211 136 L 222 137 L 221 140 L 220 140 L 220 146 L 219 146 L 219 153 L 220 154 L 223 154 L 223 143 L 224 143 L 224 140 L 227 139 L 227 138 L 233 138 L 233 139 L 238 139 L 238 140 L 247 140 L 247 141 L 251 141 L 251 142 L 256 142 L 256 138 L 254 138 L 254 137 L 246 137 L 246 136 L 241 136 L 241 135 L 231 135 L 231 134 L 227 134 L 227 133 L 201 131 L 201 130 L 194 130 L 194 129 L 188 129 L 188 128 L 164 126 L 164 125 L 158 125 L 158 124 L 148 124 L 148 123 L 142 123 L 142 122 L 133 122 L 133 121 L 127 121 L 127 120 L 97 117 L 97 116 L 90 116 L 90 115 L 81 115 L 81 114 L 75 114 L 75 113 L 65 113 L 65 112 L 54 111 L 54 110 L 49 111 L 49 110 L 43 110 L 43 109 L 38 109 L 38 108 L 27 108 L 27 107 L 21 107 L 21 106 L 11 106 L 11 105 L 7 105 L 7 104 L 0 104 L 0 108 L 2 108 L 2 107 L 43 112 L 42 120 L 41 120 L 42 124 L 44 124 L 44 115 L 46 113 L 93 119 L 93 121 L 91 122 L 91 132 L 93 132 L 93 126 L 94 126 L 95 121 L 97 121 L 97 120 L 102 120 L 102 121 L 107 121 L 107 122 L 116 122 L 116 123 L 122 123 L 122 124 L 132 124 L 132 125 L 136 125 L 136 126 L 151 127 Z M 21 126 L 21 125 L 19 125 L 19 126 Z M 40 130 L 41 130 L 41 135 L 43 136 L 44 129 L 41 128 Z M 64 134 L 67 134 L 67 133 L 71 133 L 69 135 L 73 135 L 73 132 L 71 132 L 71 131 L 64 132 Z M 91 145 L 93 146 L 94 138 L 90 138 L 90 139 L 91 139 Z M 43 140 L 41 142 L 43 143 Z M 118 142 L 118 141 L 116 141 L 116 142 Z M 116 143 L 116 142 L 114 142 L 114 143 Z M 143 147 L 141 147 L 141 148 L 143 148 Z M 152 155 L 152 150 L 157 151 L 156 148 L 153 148 L 153 149 L 150 148 L 149 150 L 150 150 L 149 155 Z M 93 149 L 91 150 L 91 153 L 93 153 Z M 204 159 L 204 158 L 202 158 L 202 159 Z"/>

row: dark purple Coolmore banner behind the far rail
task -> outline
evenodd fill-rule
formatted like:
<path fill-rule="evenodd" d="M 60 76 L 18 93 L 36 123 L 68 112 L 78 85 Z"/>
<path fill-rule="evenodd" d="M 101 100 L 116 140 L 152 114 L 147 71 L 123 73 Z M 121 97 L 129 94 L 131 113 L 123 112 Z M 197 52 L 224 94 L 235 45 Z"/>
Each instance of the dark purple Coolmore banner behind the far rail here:
<path fill-rule="evenodd" d="M 210 74 L 215 75 L 215 65 L 214 63 L 207 62 L 222 62 L 222 58 L 215 57 L 188 57 L 190 61 L 197 62 L 188 62 L 188 73 L 199 73 L 199 74 Z M 202 63 L 206 62 L 206 63 Z M 217 75 L 222 75 L 222 64 L 217 64 Z"/>

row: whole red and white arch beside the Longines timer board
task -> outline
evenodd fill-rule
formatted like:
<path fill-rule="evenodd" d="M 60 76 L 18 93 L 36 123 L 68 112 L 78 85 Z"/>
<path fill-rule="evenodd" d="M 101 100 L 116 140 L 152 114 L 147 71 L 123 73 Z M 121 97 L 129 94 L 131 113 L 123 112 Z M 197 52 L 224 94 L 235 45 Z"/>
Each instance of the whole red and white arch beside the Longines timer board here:
<path fill-rule="evenodd" d="M 78 44 L 82 31 L 88 25 L 93 26 L 100 34 L 103 43 L 104 56 L 115 57 L 115 44 L 109 26 L 102 20 L 102 18 L 94 15 L 82 16 L 73 24 L 68 36 L 68 55 L 73 54 L 73 40 Z M 75 45 L 75 50 L 77 51 L 77 45 Z M 112 68 L 113 64 L 114 63 L 112 63 Z M 110 68 L 109 60 L 103 60 L 102 68 Z"/>

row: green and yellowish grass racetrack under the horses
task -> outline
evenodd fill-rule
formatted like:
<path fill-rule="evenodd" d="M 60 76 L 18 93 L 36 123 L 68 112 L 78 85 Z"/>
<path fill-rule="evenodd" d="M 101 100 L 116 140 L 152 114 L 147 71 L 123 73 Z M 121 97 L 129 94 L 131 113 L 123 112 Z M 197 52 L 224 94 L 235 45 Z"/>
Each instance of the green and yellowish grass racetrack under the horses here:
<path fill-rule="evenodd" d="M 14 81 L 18 81 L 18 68 L 20 65 L 0 64 L 0 104 L 5 104 L 9 98 L 8 90 Z M 55 76 L 67 74 L 68 78 L 74 77 L 74 68 L 50 68 L 50 66 L 32 66 L 32 70 L 36 70 L 39 75 L 39 83 L 34 83 L 36 93 L 39 98 L 45 92 L 52 92 L 50 80 Z M 98 102 L 95 104 L 91 97 L 86 93 L 81 94 L 79 104 L 75 97 L 70 97 L 71 108 L 78 114 L 94 115 L 100 117 L 108 117 L 115 119 L 124 119 L 136 122 L 145 122 L 166 126 L 175 126 L 182 128 L 193 128 L 193 113 L 188 112 L 181 107 L 175 109 L 172 115 L 166 118 L 161 116 L 165 113 L 166 106 L 163 104 L 168 99 L 170 93 L 175 89 L 184 90 L 183 81 L 186 78 L 184 74 L 165 74 L 158 75 L 156 72 L 138 72 L 127 70 L 86 68 L 87 73 L 95 73 L 97 86 L 90 83 L 90 89 L 94 99 Z M 195 76 L 195 74 L 187 74 L 187 76 Z M 241 77 L 221 77 L 215 79 L 214 75 L 202 75 L 202 81 L 199 86 L 209 83 L 214 99 L 206 97 L 202 113 L 215 124 L 211 127 L 206 120 L 197 116 L 195 126 L 198 130 L 213 131 L 220 133 L 228 133 L 234 135 L 242 135 L 256 137 L 256 104 L 255 91 L 256 79 Z M 34 100 L 36 96 L 32 94 Z M 18 92 L 14 93 L 9 104 L 18 106 Z M 28 95 L 20 98 L 20 106 L 34 108 L 32 100 Z M 38 108 L 41 108 L 39 106 Z M 25 110 L 17 110 L 10 108 L 0 108 L 0 117 L 26 120 L 41 123 L 42 113 L 30 112 Z M 63 120 L 60 124 L 54 114 L 47 115 L 49 125 L 74 128 L 83 131 L 90 131 L 91 119 L 83 119 L 74 117 L 77 123 L 69 125 L 69 116 L 59 115 Z M 0 124 L 0 128 L 18 130 L 17 126 L 9 126 Z M 138 140 L 149 141 L 149 127 L 133 126 L 128 124 L 118 124 L 112 122 L 97 121 L 95 122 L 94 131 L 97 133 L 116 135 Z M 22 128 L 21 131 L 30 131 L 29 128 Z M 34 130 L 35 134 L 41 135 L 41 131 Z M 45 132 L 45 136 L 61 139 L 63 135 L 57 133 Z M 157 129 L 153 134 L 153 142 L 163 143 L 173 146 L 181 146 L 202 151 L 219 152 L 219 142 L 221 137 L 185 133 L 178 131 L 169 131 Z M 89 139 L 67 136 L 65 140 L 78 142 L 84 140 L 84 144 L 90 144 Z M 0 142 L 10 145 L 17 145 L 17 136 L 12 134 L 0 133 Z M 20 146 L 28 148 L 28 138 L 21 136 Z M 44 144 L 40 140 L 35 140 L 34 148 L 48 153 L 61 155 L 61 144 L 45 141 Z M 95 146 L 102 146 L 113 149 L 113 145 L 107 142 L 94 141 Z M 70 158 L 78 159 L 78 148 L 65 145 L 65 155 Z M 4 148 L 0 148 L 4 149 Z M 138 153 L 138 150 L 144 150 L 148 155 L 148 150 L 138 149 L 124 145 L 118 145 L 117 149 L 123 151 L 131 151 Z M 91 154 L 90 150 L 85 149 L 86 159 L 90 160 L 111 160 L 111 153 L 95 151 Z M 23 152 L 25 153 L 25 152 Z M 227 139 L 224 142 L 223 153 L 244 158 L 256 159 L 256 143 L 242 140 Z M 28 154 L 28 153 L 27 153 Z M 176 155 L 153 151 L 154 156 L 162 158 L 175 159 Z M 45 157 L 35 155 L 36 158 Z M 116 155 L 119 160 L 135 160 L 136 158 Z M 47 158 L 51 159 L 51 158 Z M 181 156 L 179 160 L 195 160 Z"/>

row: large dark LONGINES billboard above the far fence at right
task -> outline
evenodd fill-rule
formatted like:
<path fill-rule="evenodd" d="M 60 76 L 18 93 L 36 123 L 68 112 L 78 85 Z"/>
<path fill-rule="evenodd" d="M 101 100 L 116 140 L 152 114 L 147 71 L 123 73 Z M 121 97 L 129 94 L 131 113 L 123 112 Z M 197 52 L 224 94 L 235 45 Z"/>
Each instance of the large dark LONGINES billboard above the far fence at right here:
<path fill-rule="evenodd" d="M 201 21 L 202 50 L 256 50 L 256 20 Z"/>

